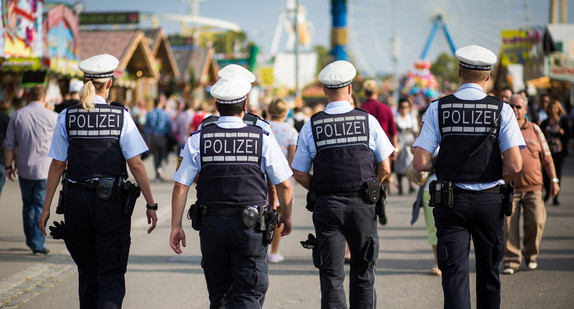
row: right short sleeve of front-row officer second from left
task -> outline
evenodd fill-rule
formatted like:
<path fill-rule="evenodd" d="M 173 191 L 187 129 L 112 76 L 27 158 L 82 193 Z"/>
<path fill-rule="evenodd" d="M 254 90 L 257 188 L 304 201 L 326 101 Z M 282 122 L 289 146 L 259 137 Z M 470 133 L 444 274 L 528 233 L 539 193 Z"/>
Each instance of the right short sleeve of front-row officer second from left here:
<path fill-rule="evenodd" d="M 280 184 L 293 175 L 281 146 L 271 135 L 263 135 L 261 170 L 267 174 L 272 185 Z"/>

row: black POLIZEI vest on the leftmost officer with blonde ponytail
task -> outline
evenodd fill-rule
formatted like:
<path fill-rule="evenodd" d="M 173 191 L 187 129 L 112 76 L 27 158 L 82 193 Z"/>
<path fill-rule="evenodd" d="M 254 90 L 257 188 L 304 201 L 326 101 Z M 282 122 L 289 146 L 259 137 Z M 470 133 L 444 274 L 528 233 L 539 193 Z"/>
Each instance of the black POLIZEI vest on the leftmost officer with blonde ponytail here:
<path fill-rule="evenodd" d="M 115 103 L 119 104 L 119 103 Z M 66 110 L 68 171 L 72 180 L 127 176 L 120 148 L 124 107 L 96 104 L 85 110 L 74 104 Z"/>

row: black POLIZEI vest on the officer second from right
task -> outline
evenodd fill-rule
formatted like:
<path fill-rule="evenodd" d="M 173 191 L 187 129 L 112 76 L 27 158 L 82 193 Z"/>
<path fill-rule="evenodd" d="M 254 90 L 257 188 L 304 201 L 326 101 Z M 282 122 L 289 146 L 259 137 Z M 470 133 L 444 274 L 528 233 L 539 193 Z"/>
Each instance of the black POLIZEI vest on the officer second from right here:
<path fill-rule="evenodd" d="M 311 117 L 311 130 L 317 148 L 313 189 L 319 193 L 350 192 L 375 179 L 366 111 L 355 108 L 334 115 L 319 112 Z"/>

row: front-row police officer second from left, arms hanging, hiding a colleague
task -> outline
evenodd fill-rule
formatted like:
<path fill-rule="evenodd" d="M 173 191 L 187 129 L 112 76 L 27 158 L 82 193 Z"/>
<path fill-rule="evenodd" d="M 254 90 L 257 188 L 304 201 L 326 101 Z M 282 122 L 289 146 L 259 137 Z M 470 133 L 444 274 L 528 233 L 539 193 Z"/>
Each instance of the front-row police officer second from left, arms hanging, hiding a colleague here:
<path fill-rule="evenodd" d="M 186 246 L 182 216 L 197 177 L 202 262 L 211 308 L 260 308 L 269 281 L 267 245 L 258 228 L 267 204 L 266 178 L 276 186 L 282 236 L 291 233 L 291 169 L 277 142 L 243 122 L 251 83 L 242 76 L 221 78 L 211 88 L 220 118 L 188 138 L 174 173 L 170 246 Z M 255 218 L 255 220 L 250 220 Z M 259 222 L 256 222 L 259 221 Z M 194 223 L 195 225 L 195 223 Z"/>

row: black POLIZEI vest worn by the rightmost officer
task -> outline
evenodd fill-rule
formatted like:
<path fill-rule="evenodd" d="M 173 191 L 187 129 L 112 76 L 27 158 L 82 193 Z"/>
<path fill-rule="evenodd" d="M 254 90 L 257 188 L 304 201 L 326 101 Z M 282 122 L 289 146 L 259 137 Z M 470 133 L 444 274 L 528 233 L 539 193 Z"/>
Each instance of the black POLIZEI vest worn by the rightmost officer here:
<path fill-rule="evenodd" d="M 438 104 L 441 143 L 436 161 L 437 178 L 462 183 L 501 179 L 498 134 L 504 103 L 492 96 L 467 101 L 449 95 Z"/>

